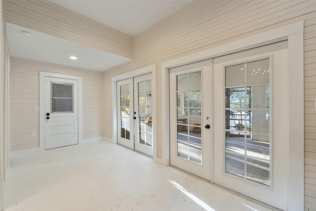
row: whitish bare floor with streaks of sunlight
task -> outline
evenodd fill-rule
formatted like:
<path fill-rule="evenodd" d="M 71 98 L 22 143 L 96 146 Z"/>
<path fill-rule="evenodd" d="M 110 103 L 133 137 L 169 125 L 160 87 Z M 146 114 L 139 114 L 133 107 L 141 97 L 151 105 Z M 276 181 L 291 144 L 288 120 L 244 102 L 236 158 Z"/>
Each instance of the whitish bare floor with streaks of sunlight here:
<path fill-rule="evenodd" d="M 270 211 L 108 142 L 11 156 L 5 211 Z"/>

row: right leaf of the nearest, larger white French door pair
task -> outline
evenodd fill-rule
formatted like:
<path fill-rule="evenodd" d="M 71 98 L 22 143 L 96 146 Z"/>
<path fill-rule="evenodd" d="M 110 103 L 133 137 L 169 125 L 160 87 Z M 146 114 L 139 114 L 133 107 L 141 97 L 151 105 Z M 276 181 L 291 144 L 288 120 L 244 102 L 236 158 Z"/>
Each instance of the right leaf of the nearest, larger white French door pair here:
<path fill-rule="evenodd" d="M 214 183 L 287 210 L 287 42 L 256 51 L 214 59 Z"/>

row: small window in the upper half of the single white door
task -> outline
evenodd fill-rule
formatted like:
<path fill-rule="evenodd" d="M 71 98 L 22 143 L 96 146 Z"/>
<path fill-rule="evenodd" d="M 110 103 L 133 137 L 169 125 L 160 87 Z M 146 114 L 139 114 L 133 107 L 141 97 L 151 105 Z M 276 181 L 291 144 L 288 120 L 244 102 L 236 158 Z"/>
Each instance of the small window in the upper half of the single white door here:
<path fill-rule="evenodd" d="M 74 112 L 73 103 L 73 84 L 51 83 L 51 113 Z"/>

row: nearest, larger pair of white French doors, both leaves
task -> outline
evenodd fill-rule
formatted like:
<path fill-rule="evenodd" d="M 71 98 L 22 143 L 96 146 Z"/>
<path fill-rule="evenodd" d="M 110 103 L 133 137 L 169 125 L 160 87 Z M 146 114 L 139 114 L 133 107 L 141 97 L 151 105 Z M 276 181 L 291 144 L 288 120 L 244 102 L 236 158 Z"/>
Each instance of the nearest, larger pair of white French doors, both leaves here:
<path fill-rule="evenodd" d="M 287 56 L 283 41 L 169 69 L 170 165 L 287 210 Z"/>

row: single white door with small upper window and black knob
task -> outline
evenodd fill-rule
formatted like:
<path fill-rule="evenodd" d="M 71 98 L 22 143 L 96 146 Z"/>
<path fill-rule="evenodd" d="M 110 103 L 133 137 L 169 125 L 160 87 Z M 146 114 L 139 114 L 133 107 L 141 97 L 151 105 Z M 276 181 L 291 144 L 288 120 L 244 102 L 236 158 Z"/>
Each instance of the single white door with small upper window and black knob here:
<path fill-rule="evenodd" d="M 45 77 L 45 149 L 78 144 L 78 81 Z"/>

